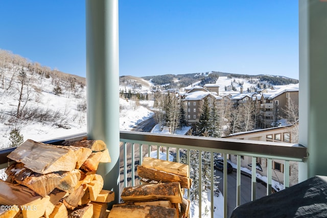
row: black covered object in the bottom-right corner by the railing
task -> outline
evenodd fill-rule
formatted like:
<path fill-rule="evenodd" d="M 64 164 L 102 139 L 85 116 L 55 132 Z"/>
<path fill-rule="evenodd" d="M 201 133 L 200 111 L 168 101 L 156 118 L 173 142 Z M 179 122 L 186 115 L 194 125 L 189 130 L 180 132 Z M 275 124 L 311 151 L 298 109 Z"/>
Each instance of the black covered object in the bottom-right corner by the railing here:
<path fill-rule="evenodd" d="M 327 177 L 315 176 L 233 210 L 236 217 L 327 217 Z"/>

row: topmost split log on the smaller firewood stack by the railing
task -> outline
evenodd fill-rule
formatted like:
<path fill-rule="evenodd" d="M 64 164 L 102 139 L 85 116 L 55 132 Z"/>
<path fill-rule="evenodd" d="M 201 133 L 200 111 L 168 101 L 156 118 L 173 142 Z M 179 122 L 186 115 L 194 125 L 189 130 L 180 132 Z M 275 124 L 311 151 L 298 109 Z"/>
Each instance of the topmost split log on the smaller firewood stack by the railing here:
<path fill-rule="evenodd" d="M 160 160 L 152 157 L 145 157 L 142 162 L 142 166 L 146 168 L 157 169 L 158 171 L 165 171 L 167 173 L 176 174 L 183 177 L 190 177 L 189 165 Z"/>

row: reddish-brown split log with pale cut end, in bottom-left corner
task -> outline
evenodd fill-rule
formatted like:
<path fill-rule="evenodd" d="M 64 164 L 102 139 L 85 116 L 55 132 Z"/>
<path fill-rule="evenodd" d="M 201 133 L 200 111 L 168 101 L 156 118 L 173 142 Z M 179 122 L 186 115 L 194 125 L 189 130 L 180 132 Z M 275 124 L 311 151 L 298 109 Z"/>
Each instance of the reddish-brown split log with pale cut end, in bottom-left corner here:
<path fill-rule="evenodd" d="M 50 200 L 49 196 L 42 198 L 24 185 L 13 185 L 3 180 L 0 180 L 0 190 L 0 204 L 18 205 L 27 218 L 42 216 Z"/>

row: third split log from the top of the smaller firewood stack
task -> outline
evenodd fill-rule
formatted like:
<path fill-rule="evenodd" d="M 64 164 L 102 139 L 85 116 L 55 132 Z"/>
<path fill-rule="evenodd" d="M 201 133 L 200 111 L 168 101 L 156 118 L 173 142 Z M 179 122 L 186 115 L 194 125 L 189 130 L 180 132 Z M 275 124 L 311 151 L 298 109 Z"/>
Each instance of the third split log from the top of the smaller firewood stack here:
<path fill-rule="evenodd" d="M 169 200 L 171 203 L 182 203 L 182 191 L 178 182 L 125 187 L 121 197 L 124 202 Z"/>

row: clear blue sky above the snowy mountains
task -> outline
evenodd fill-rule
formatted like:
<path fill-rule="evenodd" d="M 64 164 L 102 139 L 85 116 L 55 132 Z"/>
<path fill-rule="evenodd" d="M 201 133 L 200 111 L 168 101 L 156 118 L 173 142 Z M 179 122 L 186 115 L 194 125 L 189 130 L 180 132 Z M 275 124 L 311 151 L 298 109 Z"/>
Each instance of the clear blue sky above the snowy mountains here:
<path fill-rule="evenodd" d="M 0 49 L 85 77 L 85 2 L 2 1 Z M 120 0 L 120 75 L 298 79 L 298 1 Z"/>

